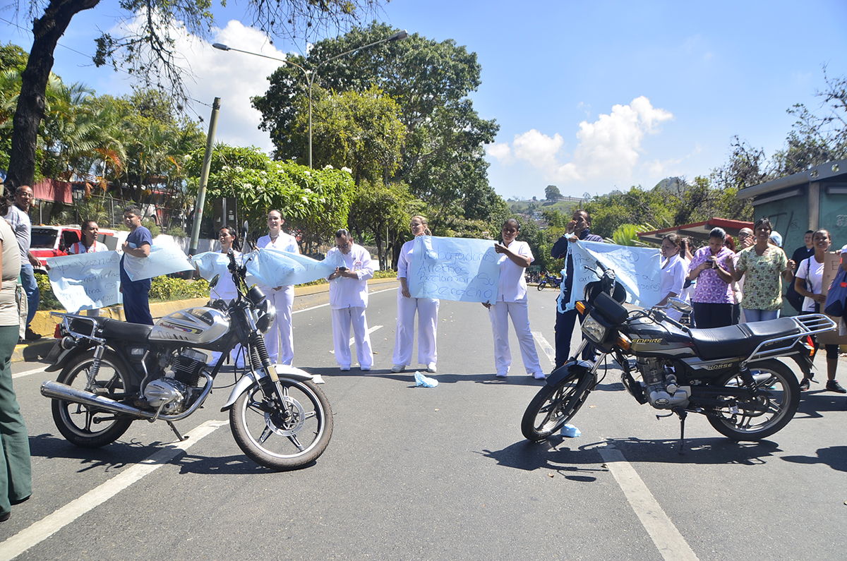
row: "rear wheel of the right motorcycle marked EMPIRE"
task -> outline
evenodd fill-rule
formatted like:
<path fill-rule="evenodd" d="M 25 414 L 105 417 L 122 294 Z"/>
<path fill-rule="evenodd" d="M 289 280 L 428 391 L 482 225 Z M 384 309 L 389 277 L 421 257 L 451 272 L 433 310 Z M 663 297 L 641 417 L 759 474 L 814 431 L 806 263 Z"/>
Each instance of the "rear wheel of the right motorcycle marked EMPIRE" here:
<path fill-rule="evenodd" d="M 738 401 L 739 413 L 729 407 L 717 410 L 717 416 L 709 415 L 709 423 L 724 436 L 738 441 L 760 441 L 782 430 L 794 418 L 800 405 L 800 383 L 794 372 L 777 359 L 762 360 L 750 364 L 750 372 L 756 387 L 763 390 L 756 403 L 767 405 L 767 411 L 746 414 L 744 402 Z M 728 374 L 719 381 L 721 386 L 741 386 L 737 374 Z"/>

